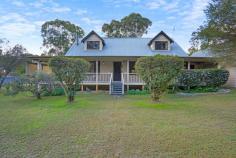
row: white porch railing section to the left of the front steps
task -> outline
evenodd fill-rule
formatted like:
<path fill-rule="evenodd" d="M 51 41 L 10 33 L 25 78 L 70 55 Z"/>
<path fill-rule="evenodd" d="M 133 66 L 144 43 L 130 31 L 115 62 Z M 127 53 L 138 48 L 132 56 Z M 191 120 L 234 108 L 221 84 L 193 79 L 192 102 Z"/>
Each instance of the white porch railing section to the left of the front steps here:
<path fill-rule="evenodd" d="M 86 73 L 85 79 L 83 83 L 108 83 L 110 84 L 110 80 L 112 77 L 112 73 Z"/>

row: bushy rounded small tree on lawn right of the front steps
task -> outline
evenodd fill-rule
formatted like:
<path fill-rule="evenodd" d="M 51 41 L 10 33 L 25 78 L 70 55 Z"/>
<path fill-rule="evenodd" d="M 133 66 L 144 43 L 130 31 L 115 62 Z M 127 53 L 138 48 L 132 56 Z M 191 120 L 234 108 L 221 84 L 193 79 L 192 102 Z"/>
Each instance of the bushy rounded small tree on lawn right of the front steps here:
<path fill-rule="evenodd" d="M 153 101 L 159 101 L 173 79 L 181 72 L 184 61 L 175 56 L 151 56 L 139 58 L 135 70 L 147 84 Z"/>

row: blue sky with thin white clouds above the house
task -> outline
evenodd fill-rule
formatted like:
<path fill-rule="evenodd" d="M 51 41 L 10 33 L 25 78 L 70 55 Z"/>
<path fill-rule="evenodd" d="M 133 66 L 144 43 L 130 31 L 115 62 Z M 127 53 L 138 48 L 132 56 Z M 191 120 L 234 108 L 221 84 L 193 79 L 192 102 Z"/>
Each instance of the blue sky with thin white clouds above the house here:
<path fill-rule="evenodd" d="M 186 52 L 193 31 L 203 24 L 203 10 L 209 0 L 0 0 L 0 38 L 22 44 L 29 53 L 40 55 L 41 25 L 54 19 L 67 20 L 85 33 L 95 30 L 101 36 L 104 23 L 140 13 L 152 21 L 143 37 L 161 30 Z"/>

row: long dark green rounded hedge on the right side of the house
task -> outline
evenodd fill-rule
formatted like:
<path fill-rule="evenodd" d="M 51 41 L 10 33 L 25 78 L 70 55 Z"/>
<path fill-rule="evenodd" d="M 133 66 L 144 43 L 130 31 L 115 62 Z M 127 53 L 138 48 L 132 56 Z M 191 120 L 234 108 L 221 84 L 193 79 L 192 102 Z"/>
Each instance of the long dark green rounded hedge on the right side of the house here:
<path fill-rule="evenodd" d="M 229 72 L 223 69 L 195 69 L 183 70 L 177 78 L 177 86 L 192 87 L 220 87 L 229 77 Z"/>

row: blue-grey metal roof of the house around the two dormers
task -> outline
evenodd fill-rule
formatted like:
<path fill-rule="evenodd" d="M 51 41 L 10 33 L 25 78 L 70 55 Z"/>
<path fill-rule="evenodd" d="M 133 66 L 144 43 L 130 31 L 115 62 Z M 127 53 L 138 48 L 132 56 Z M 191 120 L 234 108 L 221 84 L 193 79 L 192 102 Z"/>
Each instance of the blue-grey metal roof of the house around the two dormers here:
<path fill-rule="evenodd" d="M 106 45 L 102 50 L 84 50 L 84 43 L 76 42 L 66 53 L 66 56 L 153 56 L 160 55 L 176 55 L 187 57 L 186 52 L 176 43 L 171 43 L 170 50 L 153 51 L 148 46 L 148 42 L 152 38 L 103 38 Z M 81 39 L 79 39 L 81 41 Z"/>

